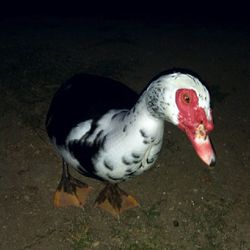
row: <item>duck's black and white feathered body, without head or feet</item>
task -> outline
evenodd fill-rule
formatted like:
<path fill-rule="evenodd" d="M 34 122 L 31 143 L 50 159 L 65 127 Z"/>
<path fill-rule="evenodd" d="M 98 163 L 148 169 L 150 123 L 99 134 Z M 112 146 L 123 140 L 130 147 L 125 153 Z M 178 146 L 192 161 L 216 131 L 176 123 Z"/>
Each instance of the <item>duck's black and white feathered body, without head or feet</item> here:
<path fill-rule="evenodd" d="M 138 95 L 118 82 L 75 76 L 55 95 L 48 134 L 79 172 L 108 182 L 126 180 L 148 169 L 162 144 L 163 121 L 150 119 L 144 100 L 136 101 Z"/>

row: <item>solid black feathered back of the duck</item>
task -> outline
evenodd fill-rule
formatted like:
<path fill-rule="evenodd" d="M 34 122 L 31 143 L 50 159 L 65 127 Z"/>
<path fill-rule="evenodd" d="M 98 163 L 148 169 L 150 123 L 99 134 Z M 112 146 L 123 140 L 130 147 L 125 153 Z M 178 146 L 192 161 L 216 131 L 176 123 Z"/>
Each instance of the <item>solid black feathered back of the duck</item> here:
<path fill-rule="evenodd" d="M 50 138 L 63 144 L 80 122 L 97 120 L 111 109 L 130 109 L 138 94 L 122 83 L 95 75 L 79 74 L 65 82 L 55 94 L 46 119 Z"/>

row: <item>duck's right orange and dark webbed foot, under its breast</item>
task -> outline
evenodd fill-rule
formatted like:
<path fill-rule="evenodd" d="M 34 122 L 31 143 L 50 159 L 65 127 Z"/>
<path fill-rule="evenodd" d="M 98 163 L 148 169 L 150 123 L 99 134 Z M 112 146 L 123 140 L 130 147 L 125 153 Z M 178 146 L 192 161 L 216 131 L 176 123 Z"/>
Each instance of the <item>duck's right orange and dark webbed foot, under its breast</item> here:
<path fill-rule="evenodd" d="M 96 205 L 115 217 L 130 208 L 139 206 L 134 197 L 118 187 L 118 184 L 108 183 L 96 199 Z"/>

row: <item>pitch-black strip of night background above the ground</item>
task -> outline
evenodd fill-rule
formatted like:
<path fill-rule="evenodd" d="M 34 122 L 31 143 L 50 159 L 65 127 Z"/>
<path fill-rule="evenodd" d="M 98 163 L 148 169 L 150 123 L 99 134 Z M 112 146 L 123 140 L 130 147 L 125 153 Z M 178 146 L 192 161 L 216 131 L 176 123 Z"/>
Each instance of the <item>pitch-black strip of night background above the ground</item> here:
<path fill-rule="evenodd" d="M 8 1 L 0 6 L 1 19 L 13 17 L 95 17 L 164 19 L 249 24 L 246 3 L 233 1 Z"/>

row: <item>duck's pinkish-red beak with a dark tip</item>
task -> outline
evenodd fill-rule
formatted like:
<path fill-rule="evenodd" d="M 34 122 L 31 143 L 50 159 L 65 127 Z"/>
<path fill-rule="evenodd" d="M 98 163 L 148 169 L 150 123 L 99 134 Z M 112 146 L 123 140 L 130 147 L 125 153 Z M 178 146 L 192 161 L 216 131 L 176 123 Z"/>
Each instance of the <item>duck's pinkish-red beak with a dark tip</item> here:
<path fill-rule="evenodd" d="M 203 123 L 197 126 L 194 131 L 186 130 L 186 134 L 201 160 L 208 166 L 214 166 L 215 153 Z"/>

